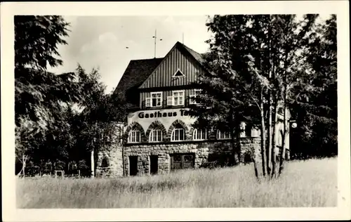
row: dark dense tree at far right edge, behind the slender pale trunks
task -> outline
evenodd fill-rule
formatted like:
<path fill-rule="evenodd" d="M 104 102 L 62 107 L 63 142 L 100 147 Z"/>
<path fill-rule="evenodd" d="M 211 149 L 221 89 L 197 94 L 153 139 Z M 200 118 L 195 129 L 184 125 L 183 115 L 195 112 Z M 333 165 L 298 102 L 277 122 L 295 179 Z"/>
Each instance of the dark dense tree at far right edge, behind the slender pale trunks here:
<path fill-rule="evenodd" d="M 289 103 L 300 125 L 296 155 L 337 154 L 337 45 L 336 15 L 315 25 L 303 51 L 306 72 L 291 89 Z"/>

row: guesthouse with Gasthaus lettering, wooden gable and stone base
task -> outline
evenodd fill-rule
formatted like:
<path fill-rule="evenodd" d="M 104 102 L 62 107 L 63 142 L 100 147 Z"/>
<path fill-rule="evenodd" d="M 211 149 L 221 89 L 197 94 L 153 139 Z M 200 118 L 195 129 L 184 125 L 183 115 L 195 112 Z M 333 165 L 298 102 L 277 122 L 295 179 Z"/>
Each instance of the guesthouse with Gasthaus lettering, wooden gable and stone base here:
<path fill-rule="evenodd" d="M 124 141 L 98 154 L 97 175 L 133 176 L 166 174 L 198 168 L 215 157 L 232 155 L 230 133 L 194 129 L 188 106 L 200 89 L 192 89 L 198 74 L 206 72 L 202 55 L 177 42 L 164 58 L 131 60 L 114 93 L 130 105 L 119 124 Z M 243 123 L 242 126 L 249 124 Z M 277 126 L 277 131 L 282 124 Z M 277 145 L 279 133 L 277 134 Z M 281 137 L 280 137 L 281 138 Z M 286 138 L 289 152 L 289 138 Z M 259 155 L 260 131 L 240 135 L 241 162 Z"/>

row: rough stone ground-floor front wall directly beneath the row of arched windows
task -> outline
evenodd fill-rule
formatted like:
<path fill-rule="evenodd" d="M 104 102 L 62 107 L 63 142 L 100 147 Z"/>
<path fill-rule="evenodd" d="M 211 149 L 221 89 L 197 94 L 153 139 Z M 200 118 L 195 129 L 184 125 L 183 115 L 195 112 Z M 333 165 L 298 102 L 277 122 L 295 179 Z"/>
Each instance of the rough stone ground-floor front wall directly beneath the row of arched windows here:
<path fill-rule="evenodd" d="M 251 161 L 260 155 L 260 140 L 255 137 L 240 138 L 241 162 Z M 218 155 L 232 156 L 230 140 L 225 141 L 192 141 L 182 143 L 154 143 L 126 145 L 124 153 L 124 170 L 129 175 L 129 156 L 138 156 L 138 175 L 150 174 L 150 155 L 157 155 L 158 174 L 171 171 L 172 154 L 194 154 L 194 168 L 198 168 L 211 157 Z M 249 157 L 248 157 L 249 156 Z M 246 158 L 245 158 L 246 157 Z"/>

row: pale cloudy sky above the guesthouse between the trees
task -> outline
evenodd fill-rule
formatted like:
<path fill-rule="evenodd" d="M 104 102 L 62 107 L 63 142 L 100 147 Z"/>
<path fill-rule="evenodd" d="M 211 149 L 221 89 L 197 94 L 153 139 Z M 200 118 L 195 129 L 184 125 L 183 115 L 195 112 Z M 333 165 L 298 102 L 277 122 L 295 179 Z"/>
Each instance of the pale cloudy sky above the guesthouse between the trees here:
<path fill-rule="evenodd" d="M 50 68 L 57 74 L 72 72 L 79 63 L 86 72 L 100 70 L 106 93 L 117 87 L 130 60 L 164 57 L 177 41 L 204 53 L 211 37 L 207 16 L 64 16 L 70 23 L 67 45 L 58 46 L 63 65 Z M 126 48 L 128 47 L 128 48 Z"/>

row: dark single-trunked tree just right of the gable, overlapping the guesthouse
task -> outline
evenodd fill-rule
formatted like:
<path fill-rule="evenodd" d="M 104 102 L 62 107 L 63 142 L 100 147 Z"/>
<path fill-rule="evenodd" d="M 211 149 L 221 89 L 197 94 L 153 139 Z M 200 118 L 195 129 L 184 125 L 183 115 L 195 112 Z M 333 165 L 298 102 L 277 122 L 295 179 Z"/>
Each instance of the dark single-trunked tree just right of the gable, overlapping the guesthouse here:
<path fill-rule="evenodd" d="M 198 126 L 216 126 L 216 129 L 230 131 L 232 138 L 233 162 L 239 161 L 240 150 L 237 144 L 241 122 L 257 122 L 259 109 L 255 92 L 257 86 L 248 74 L 249 51 L 246 43 L 249 36 L 239 32 L 246 28 L 250 17 L 215 15 L 206 25 L 215 33 L 208 40 L 210 49 L 205 57 L 204 67 L 208 72 L 200 74 L 193 86 L 202 89 L 197 103 L 191 107 L 191 115 L 197 117 Z"/>

